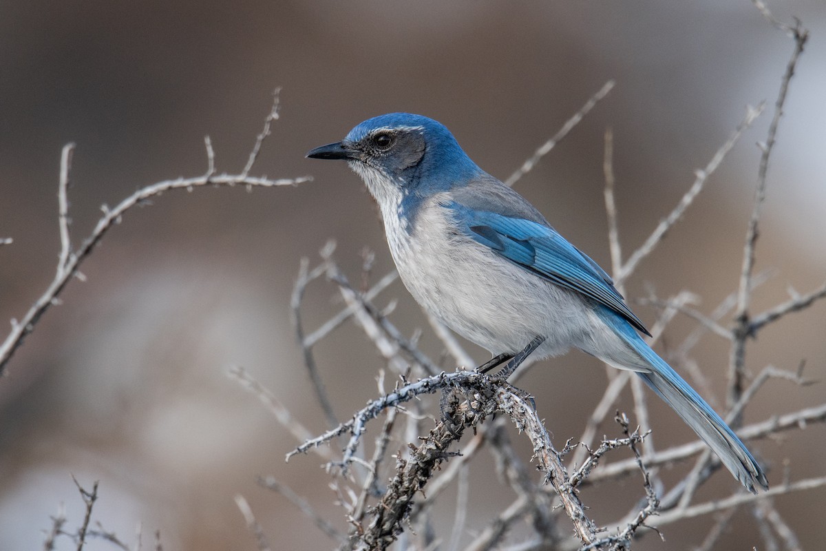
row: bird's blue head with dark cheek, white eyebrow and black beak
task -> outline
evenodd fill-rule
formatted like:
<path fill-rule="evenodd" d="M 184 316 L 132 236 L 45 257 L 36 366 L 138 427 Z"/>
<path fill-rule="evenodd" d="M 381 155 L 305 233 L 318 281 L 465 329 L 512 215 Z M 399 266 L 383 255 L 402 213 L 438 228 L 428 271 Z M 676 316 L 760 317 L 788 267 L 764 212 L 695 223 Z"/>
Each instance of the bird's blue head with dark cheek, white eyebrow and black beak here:
<path fill-rule="evenodd" d="M 428 197 L 482 172 L 441 123 L 410 113 L 375 116 L 306 156 L 346 160 L 380 204 Z"/>

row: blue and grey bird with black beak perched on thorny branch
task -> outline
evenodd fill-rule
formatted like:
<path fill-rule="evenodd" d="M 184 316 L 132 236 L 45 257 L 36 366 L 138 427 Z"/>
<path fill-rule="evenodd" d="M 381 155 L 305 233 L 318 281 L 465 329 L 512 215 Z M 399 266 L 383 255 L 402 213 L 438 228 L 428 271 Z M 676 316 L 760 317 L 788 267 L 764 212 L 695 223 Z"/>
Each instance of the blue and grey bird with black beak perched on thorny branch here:
<path fill-rule="evenodd" d="M 630 370 L 671 406 L 749 492 L 768 488 L 761 466 L 709 404 L 656 352 L 596 262 L 524 197 L 485 172 L 433 119 L 389 113 L 344 140 L 309 151 L 341 159 L 377 202 L 387 245 L 425 311 L 508 362 L 576 348 Z"/>

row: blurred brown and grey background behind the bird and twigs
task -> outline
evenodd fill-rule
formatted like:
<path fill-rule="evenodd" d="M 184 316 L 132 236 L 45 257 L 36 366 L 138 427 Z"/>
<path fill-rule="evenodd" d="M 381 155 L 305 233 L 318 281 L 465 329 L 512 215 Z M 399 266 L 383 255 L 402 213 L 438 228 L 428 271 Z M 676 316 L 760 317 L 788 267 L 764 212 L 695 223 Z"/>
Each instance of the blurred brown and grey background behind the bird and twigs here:
<path fill-rule="evenodd" d="M 785 300 L 789 287 L 818 287 L 826 273 L 826 5 L 770 7 L 781 20 L 800 17 L 811 38 L 771 159 L 757 270 L 775 271 L 756 294 L 756 312 Z M 170 192 L 129 211 L 105 237 L 83 264 L 88 281 L 69 284 L 63 305 L 46 314 L 0 380 L 0 549 L 39 549 L 61 503 L 68 527 L 79 525 L 83 503 L 73 474 L 86 487 L 101 481 L 95 518 L 130 542 L 142 523 L 145 541 L 160 530 L 164 549 L 255 549 L 233 500 L 241 493 L 274 549 L 333 547 L 282 496 L 254 482 L 273 473 L 344 528 L 319 458 L 284 463 L 297 443 L 226 373 L 243 365 L 311 430 L 325 430 L 289 321 L 299 260 L 317 259 L 330 238 L 354 280 L 363 249 L 376 251 L 377 276 L 392 260 L 358 178 L 344 164 L 304 154 L 369 116 L 432 116 L 504 179 L 615 79 L 610 96 L 516 186 L 607 268 L 606 127 L 615 136 L 619 229 L 629 254 L 746 106 L 767 100 L 767 113 L 629 282 L 632 300 L 648 288 L 661 297 L 685 289 L 702 297 L 701 311 L 712 311 L 738 282 L 757 181 L 755 143 L 765 140 L 793 49 L 746 1 L 33 0 L 2 2 L 0 14 L 0 237 L 14 240 L 0 248 L 0 318 L 22 316 L 53 278 L 59 154 L 69 141 L 77 144 L 69 190 L 75 245 L 102 204 L 162 179 L 204 173 L 204 135 L 218 170 L 239 172 L 277 86 L 282 116 L 253 172 L 315 178 L 297 188 Z M 311 287 L 309 329 L 339 310 L 337 297 L 323 282 Z M 438 357 L 442 347 L 401 283 L 379 303 L 393 298 L 400 306 L 392 320 L 407 335 L 423 328 L 422 349 Z M 634 309 L 653 324 L 656 311 Z M 667 354 L 694 326 L 678 318 L 658 349 Z M 822 379 L 824 329 L 824 304 L 789 316 L 750 345 L 748 367 L 794 369 L 805 359 L 808 377 Z M 695 358 L 717 392 L 712 403 L 724 403 L 727 345 L 707 337 Z M 354 326 L 325 340 L 317 359 L 341 418 L 375 397 L 382 359 Z M 581 434 L 604 373 L 596 360 L 569 354 L 540 364 L 520 386 L 534 393 L 563 442 Z M 746 422 L 823 398 L 822 385 L 770 382 Z M 623 400 L 630 411 L 629 396 Z M 650 403 L 658 447 L 693 438 L 667 408 Z M 771 463 L 777 483 L 786 458 L 793 479 L 823 474 L 824 436 L 814 425 L 750 447 Z M 490 458 L 479 458 L 472 480 L 492 476 Z M 719 495 L 734 490 L 728 473 L 715 476 Z M 638 482 L 629 488 L 641 492 Z M 471 529 L 510 503 L 506 492 L 492 493 L 482 486 L 472 492 Z M 819 490 L 776 500 L 805 549 L 822 541 L 824 498 Z M 608 522 L 627 506 L 609 500 L 597 520 Z M 746 508 L 734 516 L 720 549 L 760 548 L 750 515 Z M 638 549 L 690 548 L 709 524 L 668 526 L 667 544 L 647 538 Z M 58 549 L 73 547 L 64 539 Z M 88 549 L 112 548 L 94 542 Z"/>

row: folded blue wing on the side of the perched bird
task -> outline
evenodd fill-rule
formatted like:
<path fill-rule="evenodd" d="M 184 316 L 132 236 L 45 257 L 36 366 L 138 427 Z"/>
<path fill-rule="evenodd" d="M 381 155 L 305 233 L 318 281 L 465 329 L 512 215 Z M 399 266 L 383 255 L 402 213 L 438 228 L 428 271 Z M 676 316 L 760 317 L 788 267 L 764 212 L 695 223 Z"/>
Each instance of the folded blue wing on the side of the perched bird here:
<path fill-rule="evenodd" d="M 550 226 L 536 221 L 477 211 L 457 202 L 447 207 L 457 215 L 465 233 L 514 264 L 560 287 L 581 292 L 615 311 L 638 330 L 651 335 L 625 305 L 610 276 Z"/>

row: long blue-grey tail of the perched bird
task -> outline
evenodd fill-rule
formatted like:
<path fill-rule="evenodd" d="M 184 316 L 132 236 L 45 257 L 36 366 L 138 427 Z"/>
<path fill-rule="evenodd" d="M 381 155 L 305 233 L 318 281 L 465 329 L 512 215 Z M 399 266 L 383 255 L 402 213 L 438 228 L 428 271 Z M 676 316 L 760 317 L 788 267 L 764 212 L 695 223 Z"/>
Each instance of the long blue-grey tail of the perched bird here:
<path fill-rule="evenodd" d="M 627 321 L 607 309 L 601 313 L 603 321 L 644 360 L 645 367 L 651 368 L 651 371 L 639 371 L 634 366 L 648 387 L 657 392 L 657 396 L 709 445 L 749 492 L 757 493 L 756 485 L 768 489 L 766 475 L 760 465 L 711 406 L 665 360 L 657 356 Z"/>

